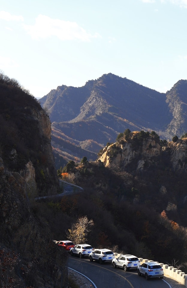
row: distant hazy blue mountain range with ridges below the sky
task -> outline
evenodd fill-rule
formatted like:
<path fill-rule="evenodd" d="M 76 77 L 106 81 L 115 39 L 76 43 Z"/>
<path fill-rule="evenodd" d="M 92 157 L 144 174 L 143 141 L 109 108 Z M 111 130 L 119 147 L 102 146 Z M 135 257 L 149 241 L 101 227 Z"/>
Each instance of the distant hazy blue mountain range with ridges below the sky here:
<path fill-rule="evenodd" d="M 126 129 L 155 131 L 170 141 L 187 130 L 187 80 L 159 93 L 109 73 L 82 87 L 58 86 L 40 104 L 52 122 L 56 168 L 84 156 L 96 160 L 100 149 Z"/>

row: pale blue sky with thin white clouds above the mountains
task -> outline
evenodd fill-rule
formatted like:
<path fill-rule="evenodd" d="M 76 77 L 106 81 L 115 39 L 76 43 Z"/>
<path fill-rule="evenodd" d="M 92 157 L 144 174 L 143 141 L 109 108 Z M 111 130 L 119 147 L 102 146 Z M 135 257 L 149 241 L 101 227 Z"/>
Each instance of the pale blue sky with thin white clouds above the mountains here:
<path fill-rule="evenodd" d="M 0 35 L 0 72 L 36 98 L 107 73 L 187 79 L 187 0 L 1 0 Z"/>

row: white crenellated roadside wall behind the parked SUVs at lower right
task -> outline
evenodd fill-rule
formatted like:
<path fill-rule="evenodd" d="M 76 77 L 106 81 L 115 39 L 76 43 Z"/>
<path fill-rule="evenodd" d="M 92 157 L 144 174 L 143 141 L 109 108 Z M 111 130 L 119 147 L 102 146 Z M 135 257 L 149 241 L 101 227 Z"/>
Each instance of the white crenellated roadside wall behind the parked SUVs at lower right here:
<path fill-rule="evenodd" d="M 120 255 L 122 255 L 122 254 L 118 254 L 118 253 L 114 253 L 114 254 L 115 254 L 116 258 L 119 257 Z M 138 257 L 138 259 L 140 260 L 140 265 L 144 262 L 154 261 L 154 260 L 143 259 L 143 258 L 139 258 L 139 257 Z M 179 283 L 181 283 L 187 287 L 187 274 L 185 274 L 183 271 L 181 271 L 177 268 L 174 268 L 173 266 L 170 266 L 168 264 L 159 263 L 159 262 L 157 262 L 157 263 L 163 268 L 164 276 L 166 276 L 166 277 L 169 276 L 172 279 L 176 280 L 177 282 L 179 282 Z"/>

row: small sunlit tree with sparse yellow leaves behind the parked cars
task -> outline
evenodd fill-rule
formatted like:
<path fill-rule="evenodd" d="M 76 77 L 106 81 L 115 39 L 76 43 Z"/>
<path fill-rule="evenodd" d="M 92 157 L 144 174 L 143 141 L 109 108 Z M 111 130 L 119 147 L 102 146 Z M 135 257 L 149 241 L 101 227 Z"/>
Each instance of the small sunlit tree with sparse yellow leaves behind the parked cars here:
<path fill-rule="evenodd" d="M 66 235 L 68 239 L 74 244 L 85 243 L 87 240 L 87 235 L 91 231 L 90 227 L 93 226 L 93 220 L 88 221 L 87 216 L 80 217 L 76 223 L 71 225 L 71 229 L 66 231 Z"/>

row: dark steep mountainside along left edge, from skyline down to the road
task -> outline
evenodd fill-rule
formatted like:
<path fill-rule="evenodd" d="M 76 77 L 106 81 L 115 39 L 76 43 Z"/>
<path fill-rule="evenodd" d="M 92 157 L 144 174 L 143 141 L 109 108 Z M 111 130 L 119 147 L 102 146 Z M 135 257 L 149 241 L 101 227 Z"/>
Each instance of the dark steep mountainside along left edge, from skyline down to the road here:
<path fill-rule="evenodd" d="M 1 287 L 67 288 L 67 254 L 35 203 L 57 194 L 51 123 L 38 101 L 0 73 Z"/>

